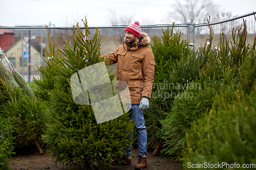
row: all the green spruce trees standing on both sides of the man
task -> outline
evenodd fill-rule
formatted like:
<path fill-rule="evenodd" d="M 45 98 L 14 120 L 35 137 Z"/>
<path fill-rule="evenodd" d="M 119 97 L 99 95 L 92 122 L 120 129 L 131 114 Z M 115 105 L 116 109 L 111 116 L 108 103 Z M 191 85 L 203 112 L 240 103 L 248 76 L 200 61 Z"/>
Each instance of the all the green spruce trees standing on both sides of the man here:
<path fill-rule="evenodd" d="M 49 42 L 47 64 L 38 67 L 40 79 L 34 79 L 37 100 L 1 79 L 2 169 L 8 169 L 7 155 L 14 148 L 18 152 L 36 144 L 40 150 L 43 142 L 51 146 L 56 162 L 108 169 L 131 142 L 133 124 L 127 114 L 97 124 L 91 105 L 78 105 L 72 98 L 71 76 L 103 60 L 99 31 L 84 39 L 90 36 L 87 21 L 84 26 L 84 32 L 74 28 L 74 45 L 67 42 L 63 51 Z M 255 163 L 256 39 L 246 45 L 246 36 L 244 22 L 243 29 L 233 30 L 231 41 L 220 35 L 213 48 L 210 30 L 208 42 L 197 52 L 173 29 L 153 37 L 155 86 L 144 112 L 148 148 L 157 145 L 162 154 L 181 159 L 184 168 L 187 163 Z M 114 80 L 111 72 L 109 77 Z"/>

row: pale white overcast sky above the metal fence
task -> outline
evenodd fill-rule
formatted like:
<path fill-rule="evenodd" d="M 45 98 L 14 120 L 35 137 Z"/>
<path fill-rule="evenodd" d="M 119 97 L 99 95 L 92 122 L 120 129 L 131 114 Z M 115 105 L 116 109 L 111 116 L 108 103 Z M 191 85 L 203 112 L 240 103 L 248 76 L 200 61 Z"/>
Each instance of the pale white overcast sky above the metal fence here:
<path fill-rule="evenodd" d="M 210 1 L 210 0 L 209 0 Z M 0 0 L 0 26 L 72 26 L 87 16 L 89 26 L 109 26 L 110 12 L 133 15 L 141 25 L 163 24 L 175 0 Z M 212 0 L 232 16 L 256 11 L 256 0 Z M 177 22 L 176 22 L 177 23 Z"/>

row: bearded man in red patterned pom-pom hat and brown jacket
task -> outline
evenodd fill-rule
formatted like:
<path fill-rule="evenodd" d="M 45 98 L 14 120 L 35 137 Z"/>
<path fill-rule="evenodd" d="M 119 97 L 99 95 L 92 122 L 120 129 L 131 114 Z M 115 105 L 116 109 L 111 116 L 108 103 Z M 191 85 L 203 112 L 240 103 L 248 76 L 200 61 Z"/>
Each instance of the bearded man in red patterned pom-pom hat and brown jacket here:
<path fill-rule="evenodd" d="M 123 44 L 105 56 L 105 59 L 109 57 L 110 64 L 117 63 L 117 81 L 124 81 L 129 86 L 132 102 L 129 118 L 135 121 L 139 148 L 139 160 L 135 169 L 144 169 L 147 164 L 147 136 L 143 111 L 148 108 L 155 75 L 155 58 L 148 45 L 150 37 L 141 33 L 139 22 L 135 21 L 125 29 Z M 126 158 L 123 160 L 131 164 L 131 148 L 127 148 L 126 152 Z"/>

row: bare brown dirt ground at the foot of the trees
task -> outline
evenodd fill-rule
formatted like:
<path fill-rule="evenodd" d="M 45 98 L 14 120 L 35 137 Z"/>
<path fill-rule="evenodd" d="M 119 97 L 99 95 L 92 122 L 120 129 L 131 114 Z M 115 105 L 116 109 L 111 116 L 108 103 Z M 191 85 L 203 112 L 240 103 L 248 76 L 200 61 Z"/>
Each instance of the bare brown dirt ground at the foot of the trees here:
<path fill-rule="evenodd" d="M 40 155 L 37 150 L 26 154 L 26 155 L 13 155 L 12 158 L 9 158 L 10 167 L 13 170 L 23 169 L 23 170 L 34 170 L 34 169 L 54 169 L 54 170 L 63 170 L 67 168 L 65 165 L 57 164 L 55 166 L 54 159 L 50 157 L 50 149 L 44 149 L 44 154 Z M 114 165 L 111 170 L 128 170 L 135 169 L 134 166 L 138 161 L 138 158 L 135 158 L 138 153 L 138 149 L 132 150 L 132 165 Z M 145 169 L 152 170 L 164 170 L 164 169 L 183 169 L 182 162 L 175 161 L 163 156 L 154 156 L 153 151 L 148 151 L 147 156 L 147 167 Z"/>

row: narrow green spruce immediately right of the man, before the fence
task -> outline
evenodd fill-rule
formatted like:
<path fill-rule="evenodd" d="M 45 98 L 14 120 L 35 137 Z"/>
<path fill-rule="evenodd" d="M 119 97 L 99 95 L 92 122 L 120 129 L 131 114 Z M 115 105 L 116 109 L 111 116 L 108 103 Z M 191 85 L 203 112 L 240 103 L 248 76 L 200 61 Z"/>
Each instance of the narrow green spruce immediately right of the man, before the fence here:
<path fill-rule="evenodd" d="M 175 71 L 174 66 L 177 65 L 182 59 L 186 60 L 189 55 L 193 53 L 190 49 L 189 43 L 186 40 L 181 40 L 182 34 L 179 30 L 174 32 L 174 23 L 172 30 L 169 32 L 169 28 L 163 31 L 162 38 L 157 36 L 153 37 L 153 43 L 151 48 L 155 56 L 155 81 L 153 85 L 152 98 L 150 100 L 150 107 L 145 111 L 145 124 L 148 129 L 148 148 L 161 147 L 160 133 L 162 125 L 161 120 L 165 119 L 166 112 L 170 111 L 170 105 L 173 102 L 172 92 L 166 90 L 169 89 L 170 84 L 176 84 L 179 82 L 168 82 L 169 75 Z M 183 78 L 183 77 L 182 77 Z M 169 89 L 173 90 L 173 89 Z M 174 91 L 176 92 L 176 91 Z M 160 150 L 156 150 L 159 152 Z M 155 154 L 155 153 L 154 153 Z"/>

